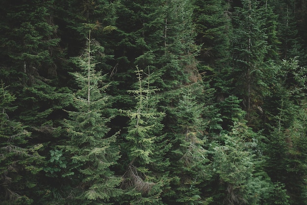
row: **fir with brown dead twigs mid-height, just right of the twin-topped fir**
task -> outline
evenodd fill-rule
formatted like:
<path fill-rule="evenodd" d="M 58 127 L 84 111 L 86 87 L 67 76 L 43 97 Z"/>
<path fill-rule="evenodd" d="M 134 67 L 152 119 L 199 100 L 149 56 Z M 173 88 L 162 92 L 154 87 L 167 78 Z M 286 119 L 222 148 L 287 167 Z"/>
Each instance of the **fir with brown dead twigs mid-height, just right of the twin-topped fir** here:
<path fill-rule="evenodd" d="M 172 149 L 167 154 L 172 162 L 168 168 L 171 189 L 164 193 L 166 204 L 209 204 L 212 199 L 206 195 L 206 185 L 211 180 L 211 168 L 207 158 L 205 121 L 206 105 L 196 98 L 196 93 L 204 92 L 201 83 L 194 83 L 180 89 L 181 96 L 176 107 L 170 112 L 176 116 L 169 125 L 168 133 Z"/>

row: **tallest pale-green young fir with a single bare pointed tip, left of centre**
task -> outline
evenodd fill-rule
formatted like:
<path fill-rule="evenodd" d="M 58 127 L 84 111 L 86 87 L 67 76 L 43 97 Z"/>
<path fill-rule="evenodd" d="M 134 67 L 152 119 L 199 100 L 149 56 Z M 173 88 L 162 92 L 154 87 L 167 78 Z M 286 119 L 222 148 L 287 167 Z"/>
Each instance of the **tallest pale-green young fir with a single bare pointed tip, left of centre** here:
<path fill-rule="evenodd" d="M 67 111 L 70 118 L 64 121 L 70 140 L 59 146 L 70 158 L 66 176 L 73 190 L 65 204 L 107 204 L 121 195 L 116 188 L 121 178 L 110 168 L 119 158 L 119 148 L 115 144 L 117 134 L 110 134 L 107 127 L 107 85 L 103 85 L 101 72 L 95 70 L 91 32 L 87 40 L 87 48 L 78 60 L 81 72 L 73 73 L 80 88 L 74 94 L 76 110 Z"/>

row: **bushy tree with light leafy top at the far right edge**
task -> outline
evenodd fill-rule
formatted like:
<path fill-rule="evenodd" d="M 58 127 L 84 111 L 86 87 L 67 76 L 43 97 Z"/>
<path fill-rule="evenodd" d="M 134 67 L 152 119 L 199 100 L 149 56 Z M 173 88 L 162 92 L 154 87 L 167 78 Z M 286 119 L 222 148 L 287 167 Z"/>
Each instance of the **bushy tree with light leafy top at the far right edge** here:
<path fill-rule="evenodd" d="M 305 99 L 302 92 L 306 88 L 306 69 L 295 59 L 284 60 L 278 69 L 276 81 L 272 82 L 274 92 L 268 99 L 272 99 L 272 107 L 266 108 L 271 116 L 266 169 L 273 182 L 285 185 L 289 204 L 305 204 L 306 142 L 302 125 L 306 113 L 301 102 Z"/>

